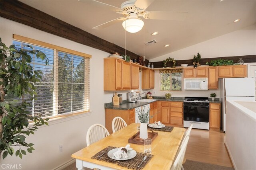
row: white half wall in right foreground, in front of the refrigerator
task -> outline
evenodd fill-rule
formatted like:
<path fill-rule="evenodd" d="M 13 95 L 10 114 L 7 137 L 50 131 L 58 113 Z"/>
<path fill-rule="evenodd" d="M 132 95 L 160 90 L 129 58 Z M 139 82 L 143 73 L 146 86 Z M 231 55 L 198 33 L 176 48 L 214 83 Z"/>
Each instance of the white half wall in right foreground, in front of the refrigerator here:
<path fill-rule="evenodd" d="M 252 111 L 256 110 L 256 102 L 246 105 L 227 101 L 225 144 L 235 170 L 254 170 L 256 167 L 256 113 Z"/>

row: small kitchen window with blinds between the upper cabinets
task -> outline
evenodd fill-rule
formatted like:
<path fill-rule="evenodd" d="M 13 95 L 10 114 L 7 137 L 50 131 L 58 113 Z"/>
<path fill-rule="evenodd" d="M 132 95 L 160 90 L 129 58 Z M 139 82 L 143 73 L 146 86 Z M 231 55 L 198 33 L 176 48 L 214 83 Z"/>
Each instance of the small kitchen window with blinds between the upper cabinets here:
<path fill-rule="evenodd" d="M 182 91 L 182 69 L 166 69 L 159 72 L 160 91 Z"/>

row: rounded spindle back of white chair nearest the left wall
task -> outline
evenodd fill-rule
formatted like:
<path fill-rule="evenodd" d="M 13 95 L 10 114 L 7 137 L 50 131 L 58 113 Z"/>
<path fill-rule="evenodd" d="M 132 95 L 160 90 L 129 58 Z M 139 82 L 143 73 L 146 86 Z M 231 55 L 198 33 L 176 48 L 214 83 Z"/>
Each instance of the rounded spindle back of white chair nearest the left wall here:
<path fill-rule="evenodd" d="M 107 137 L 108 135 L 109 135 L 109 132 L 106 129 L 106 127 L 104 127 L 101 124 L 94 124 L 91 127 L 89 127 L 89 129 L 87 131 L 86 144 L 87 144 L 87 146 L 89 146 L 92 143 L 95 143 L 95 142 L 99 141 L 100 139 Z"/>

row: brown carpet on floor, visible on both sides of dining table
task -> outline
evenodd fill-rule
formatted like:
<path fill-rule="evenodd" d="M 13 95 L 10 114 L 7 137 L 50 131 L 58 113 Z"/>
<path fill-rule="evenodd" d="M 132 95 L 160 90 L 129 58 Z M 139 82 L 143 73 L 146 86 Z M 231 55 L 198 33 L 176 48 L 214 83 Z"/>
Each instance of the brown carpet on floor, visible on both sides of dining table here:
<path fill-rule="evenodd" d="M 197 162 L 193 160 L 186 160 L 186 162 L 183 164 L 183 168 L 184 170 L 234 170 L 234 168 L 231 168 L 231 167 L 207 164 L 204 162 Z M 62 170 L 77 170 L 76 162 L 67 166 Z M 91 169 L 86 168 L 86 170 L 91 170 Z"/>

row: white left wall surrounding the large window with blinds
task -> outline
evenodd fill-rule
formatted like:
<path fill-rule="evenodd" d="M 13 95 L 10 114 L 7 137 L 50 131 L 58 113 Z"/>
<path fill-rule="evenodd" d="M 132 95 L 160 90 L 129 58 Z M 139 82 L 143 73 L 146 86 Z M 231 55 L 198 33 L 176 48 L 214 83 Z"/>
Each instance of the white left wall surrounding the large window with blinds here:
<path fill-rule="evenodd" d="M 112 101 L 113 92 L 103 90 L 103 58 L 108 53 L 75 43 L 73 41 L 34 29 L 32 27 L 0 18 L 0 37 L 7 46 L 12 44 L 12 34 L 29 37 L 46 43 L 58 45 L 92 55 L 90 60 L 90 110 L 86 115 L 50 121 L 48 127 L 41 127 L 35 135 L 27 137 L 28 143 L 35 143 L 33 154 L 28 153 L 22 160 L 10 156 L 1 160 L 1 164 L 22 164 L 22 169 L 52 169 L 71 159 L 71 154 L 86 146 L 86 132 L 90 125 L 105 125 L 104 103 Z M 126 99 L 126 93 L 124 99 Z M 63 152 L 59 145 L 63 144 Z"/>

